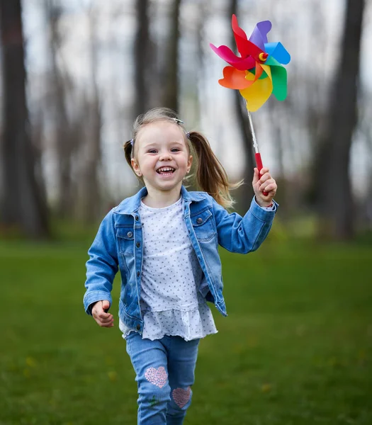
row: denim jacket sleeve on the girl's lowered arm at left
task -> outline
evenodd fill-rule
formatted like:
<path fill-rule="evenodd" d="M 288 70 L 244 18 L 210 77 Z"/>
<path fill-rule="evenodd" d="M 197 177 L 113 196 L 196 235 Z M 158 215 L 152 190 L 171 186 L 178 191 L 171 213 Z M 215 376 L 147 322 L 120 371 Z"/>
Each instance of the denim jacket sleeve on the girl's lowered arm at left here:
<path fill-rule="evenodd" d="M 89 251 L 86 262 L 86 293 L 84 308 L 91 314 L 91 304 L 100 300 L 110 301 L 113 279 L 118 272 L 118 254 L 112 210 L 103 219 Z"/>

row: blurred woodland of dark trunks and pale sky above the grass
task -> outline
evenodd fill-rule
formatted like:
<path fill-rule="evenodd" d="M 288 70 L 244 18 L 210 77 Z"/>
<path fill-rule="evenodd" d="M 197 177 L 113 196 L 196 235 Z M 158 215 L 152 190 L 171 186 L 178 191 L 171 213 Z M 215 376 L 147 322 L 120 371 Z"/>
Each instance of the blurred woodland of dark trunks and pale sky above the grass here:
<path fill-rule="evenodd" d="M 154 106 L 205 133 L 230 179 L 247 181 L 236 193 L 246 210 L 247 112 L 218 84 L 225 62 L 209 47 L 235 48 L 232 13 L 248 35 L 271 20 L 269 41 L 292 57 L 286 101 L 273 96 L 253 114 L 280 220 L 302 217 L 297 232 L 334 239 L 371 230 L 371 1 L 17 4 L 1 13 L 2 232 L 50 237 L 54 218 L 96 222 L 137 191 L 122 146 Z"/>

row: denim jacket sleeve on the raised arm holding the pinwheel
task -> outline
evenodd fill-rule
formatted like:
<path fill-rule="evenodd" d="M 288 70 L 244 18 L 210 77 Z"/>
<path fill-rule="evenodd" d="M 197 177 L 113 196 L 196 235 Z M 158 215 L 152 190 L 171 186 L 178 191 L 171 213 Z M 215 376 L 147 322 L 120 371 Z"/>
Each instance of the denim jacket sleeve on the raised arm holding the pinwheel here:
<path fill-rule="evenodd" d="M 255 251 L 269 234 L 278 204 L 273 201 L 274 210 L 261 208 L 255 198 L 242 217 L 237 212 L 229 213 L 213 200 L 218 243 L 227 251 L 247 254 Z"/>

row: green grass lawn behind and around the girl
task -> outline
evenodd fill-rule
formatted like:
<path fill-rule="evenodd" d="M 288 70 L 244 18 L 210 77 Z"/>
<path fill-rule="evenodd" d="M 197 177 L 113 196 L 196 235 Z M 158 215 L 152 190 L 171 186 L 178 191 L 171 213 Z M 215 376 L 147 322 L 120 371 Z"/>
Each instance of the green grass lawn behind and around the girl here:
<path fill-rule="evenodd" d="M 136 424 L 125 341 L 82 307 L 87 248 L 0 242 L 1 425 Z M 371 425 L 371 246 L 221 255 L 229 317 L 213 307 L 185 424 Z"/>

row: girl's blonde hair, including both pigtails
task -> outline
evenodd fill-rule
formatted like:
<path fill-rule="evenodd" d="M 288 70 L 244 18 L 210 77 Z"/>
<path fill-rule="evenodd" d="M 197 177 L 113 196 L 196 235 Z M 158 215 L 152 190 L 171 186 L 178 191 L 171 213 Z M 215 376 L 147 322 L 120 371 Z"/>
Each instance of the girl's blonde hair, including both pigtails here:
<path fill-rule="evenodd" d="M 225 169 L 213 153 L 208 140 L 196 131 L 186 132 L 184 123 L 179 120 L 175 111 L 169 108 L 154 108 L 139 115 L 133 124 L 133 139 L 124 143 L 125 159 L 132 167 L 131 160 L 135 157 L 135 140 L 140 129 L 147 124 L 159 120 L 168 120 L 176 123 L 184 130 L 184 137 L 188 151 L 196 154 L 196 185 L 201 191 L 209 193 L 217 203 L 224 208 L 231 208 L 234 200 L 230 195 L 230 190 L 238 188 L 243 181 L 230 183 Z M 142 178 L 139 178 L 142 181 Z M 142 181 L 143 182 L 143 181 Z"/>

